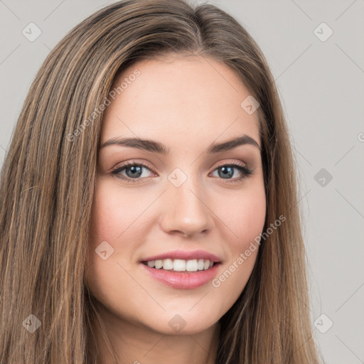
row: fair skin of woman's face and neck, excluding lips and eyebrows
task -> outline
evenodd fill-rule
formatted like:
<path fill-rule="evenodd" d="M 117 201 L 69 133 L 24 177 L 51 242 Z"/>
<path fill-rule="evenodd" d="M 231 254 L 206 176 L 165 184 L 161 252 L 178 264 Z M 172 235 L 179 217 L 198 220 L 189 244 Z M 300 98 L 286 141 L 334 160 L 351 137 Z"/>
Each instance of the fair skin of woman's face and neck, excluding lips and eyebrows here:
<path fill-rule="evenodd" d="M 266 200 L 257 112 L 242 109 L 250 92 L 223 63 L 198 56 L 139 61 L 112 88 L 136 69 L 140 75 L 134 82 L 110 99 L 100 146 L 129 137 L 159 141 L 170 150 L 100 148 L 87 287 L 100 303 L 119 363 L 213 364 L 218 321 L 247 284 L 257 250 L 219 287 L 210 281 L 195 289 L 159 282 L 141 267 L 141 259 L 171 250 L 205 250 L 220 258 L 215 275 L 220 277 L 262 232 Z M 211 144 L 243 134 L 257 145 L 208 153 Z M 111 173 L 127 161 L 139 165 L 141 173 L 130 167 Z M 252 173 L 229 168 L 235 163 Z M 178 187 L 168 179 L 176 168 L 186 176 Z M 114 249 L 107 259 L 95 253 L 101 242 Z M 178 332 L 170 325 L 176 315 L 185 325 Z M 111 363 L 96 334 L 102 363 Z"/>

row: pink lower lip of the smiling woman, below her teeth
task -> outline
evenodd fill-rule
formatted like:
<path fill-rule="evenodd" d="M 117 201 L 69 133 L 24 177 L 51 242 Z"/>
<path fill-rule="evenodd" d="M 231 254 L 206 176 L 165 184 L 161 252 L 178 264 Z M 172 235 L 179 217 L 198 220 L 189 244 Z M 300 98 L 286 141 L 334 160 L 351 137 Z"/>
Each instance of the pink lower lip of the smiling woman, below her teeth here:
<path fill-rule="evenodd" d="M 212 268 L 197 272 L 171 272 L 164 269 L 151 268 L 143 263 L 140 264 L 151 277 L 176 289 L 194 289 L 203 286 L 215 277 L 220 266 L 220 264 L 215 264 Z"/>

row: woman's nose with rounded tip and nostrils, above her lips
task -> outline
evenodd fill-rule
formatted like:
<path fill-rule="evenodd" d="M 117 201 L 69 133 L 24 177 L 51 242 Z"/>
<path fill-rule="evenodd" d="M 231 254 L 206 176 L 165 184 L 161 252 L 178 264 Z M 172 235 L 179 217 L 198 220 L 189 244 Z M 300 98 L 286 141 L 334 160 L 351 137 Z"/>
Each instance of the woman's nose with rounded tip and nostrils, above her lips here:
<path fill-rule="evenodd" d="M 213 212 L 202 186 L 188 183 L 176 187 L 168 183 L 161 203 L 161 228 L 168 234 L 191 237 L 207 233 L 213 227 Z"/>

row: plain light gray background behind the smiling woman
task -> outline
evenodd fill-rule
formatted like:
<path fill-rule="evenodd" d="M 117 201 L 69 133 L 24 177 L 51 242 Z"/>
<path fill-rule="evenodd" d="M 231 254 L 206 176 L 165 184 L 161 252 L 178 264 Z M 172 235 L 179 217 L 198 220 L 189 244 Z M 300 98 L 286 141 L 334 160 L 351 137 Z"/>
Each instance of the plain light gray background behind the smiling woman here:
<path fill-rule="evenodd" d="M 112 2 L 0 0 L 0 164 L 45 56 Z M 364 363 L 364 0 L 209 2 L 247 28 L 277 80 L 299 166 L 311 318 L 323 359 Z M 33 42 L 22 34 L 31 22 L 41 29 Z M 333 31 L 325 41 L 323 22 Z"/>

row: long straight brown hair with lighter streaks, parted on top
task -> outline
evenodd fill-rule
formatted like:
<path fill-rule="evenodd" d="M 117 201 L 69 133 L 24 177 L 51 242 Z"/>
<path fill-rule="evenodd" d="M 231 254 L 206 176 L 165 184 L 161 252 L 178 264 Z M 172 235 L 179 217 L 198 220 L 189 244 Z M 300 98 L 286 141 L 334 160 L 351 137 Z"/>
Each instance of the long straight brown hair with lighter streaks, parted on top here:
<path fill-rule="evenodd" d="M 296 169 L 264 55 L 235 18 L 213 5 L 126 0 L 92 14 L 55 46 L 18 118 L 0 183 L 1 363 L 100 360 L 85 262 L 101 105 L 119 72 L 166 53 L 220 60 L 241 77 L 260 105 L 264 231 L 280 215 L 287 218 L 262 241 L 247 286 L 220 319 L 216 363 L 319 362 Z"/>

